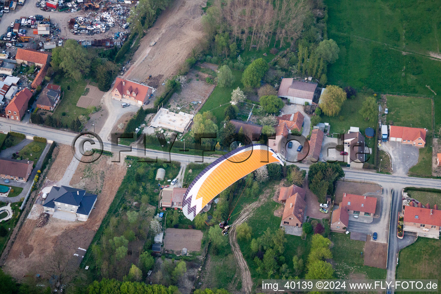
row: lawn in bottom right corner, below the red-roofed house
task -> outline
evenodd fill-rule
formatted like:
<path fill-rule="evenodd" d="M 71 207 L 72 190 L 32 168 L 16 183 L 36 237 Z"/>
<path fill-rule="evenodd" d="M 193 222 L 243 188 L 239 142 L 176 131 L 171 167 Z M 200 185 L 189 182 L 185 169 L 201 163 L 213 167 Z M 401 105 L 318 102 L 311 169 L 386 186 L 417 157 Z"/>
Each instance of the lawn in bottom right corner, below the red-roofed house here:
<path fill-rule="evenodd" d="M 438 279 L 441 280 L 439 253 L 441 241 L 430 238 L 418 238 L 415 243 L 401 249 L 396 268 L 397 279 Z M 440 284 L 438 282 L 438 288 Z M 435 293 L 435 292 L 402 292 Z"/>

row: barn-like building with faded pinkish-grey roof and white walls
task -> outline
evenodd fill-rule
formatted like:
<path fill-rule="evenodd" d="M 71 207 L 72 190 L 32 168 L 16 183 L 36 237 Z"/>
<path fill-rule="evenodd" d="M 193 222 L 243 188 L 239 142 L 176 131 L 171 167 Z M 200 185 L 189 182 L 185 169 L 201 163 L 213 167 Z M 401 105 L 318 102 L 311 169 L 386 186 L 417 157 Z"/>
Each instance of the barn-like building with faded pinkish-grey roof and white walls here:
<path fill-rule="evenodd" d="M 317 105 L 321 93 L 322 89 L 318 88 L 317 83 L 282 78 L 277 96 L 288 98 L 288 102 L 293 104 L 305 105 L 308 102 L 310 105 Z"/>

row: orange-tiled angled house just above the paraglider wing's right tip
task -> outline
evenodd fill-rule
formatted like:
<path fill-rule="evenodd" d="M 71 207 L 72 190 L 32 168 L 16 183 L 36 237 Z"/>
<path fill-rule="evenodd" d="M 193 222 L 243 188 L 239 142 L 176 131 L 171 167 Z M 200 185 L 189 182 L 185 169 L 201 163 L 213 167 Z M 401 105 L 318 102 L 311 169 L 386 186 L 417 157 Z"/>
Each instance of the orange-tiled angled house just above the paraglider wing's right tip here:
<path fill-rule="evenodd" d="M 305 116 L 301 112 L 296 112 L 293 114 L 277 116 L 276 118 L 277 124 L 274 125 L 276 138 L 268 139 L 268 146 L 271 147 L 274 152 L 280 153 L 284 156 L 284 147 L 288 143 L 288 135 L 291 134 L 292 130 L 297 130 L 299 132 L 302 131 L 303 119 Z"/>

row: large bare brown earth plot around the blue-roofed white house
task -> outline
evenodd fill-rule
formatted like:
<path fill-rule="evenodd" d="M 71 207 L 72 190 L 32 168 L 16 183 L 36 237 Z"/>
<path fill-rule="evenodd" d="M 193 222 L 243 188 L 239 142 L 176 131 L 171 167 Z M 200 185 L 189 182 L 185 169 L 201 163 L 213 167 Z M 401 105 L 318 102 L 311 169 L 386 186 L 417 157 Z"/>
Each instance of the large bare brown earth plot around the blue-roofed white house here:
<path fill-rule="evenodd" d="M 90 213 L 89 220 L 70 222 L 50 217 L 45 227 L 37 228 L 35 220 L 27 219 L 4 264 L 6 272 L 16 279 L 22 279 L 22 275 L 26 273 L 39 273 L 42 277 L 47 277 L 46 272 L 51 265 L 48 260 L 53 256 L 55 249 L 63 250 L 68 261 L 78 247 L 89 247 L 126 174 L 125 165 L 112 163 L 108 156 L 102 156 L 100 162 L 101 165 L 96 166 L 105 170 L 104 184 L 101 193 L 98 194 L 96 209 Z M 78 168 L 71 182 L 77 188 L 81 188 L 77 186 L 77 174 L 80 171 Z"/>

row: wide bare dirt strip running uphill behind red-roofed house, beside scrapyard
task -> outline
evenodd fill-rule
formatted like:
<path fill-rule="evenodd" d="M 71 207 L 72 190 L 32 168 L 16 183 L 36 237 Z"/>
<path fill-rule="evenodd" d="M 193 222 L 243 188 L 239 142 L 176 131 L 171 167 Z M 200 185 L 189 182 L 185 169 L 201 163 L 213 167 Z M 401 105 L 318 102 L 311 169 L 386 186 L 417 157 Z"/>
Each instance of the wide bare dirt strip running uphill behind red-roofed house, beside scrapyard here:
<path fill-rule="evenodd" d="M 202 0 L 176 0 L 158 17 L 154 26 L 142 38 L 133 57 L 134 63 L 123 78 L 146 82 L 157 88 L 187 59 L 191 49 L 204 37 L 201 25 Z M 150 47 L 152 41 L 157 43 Z"/>

